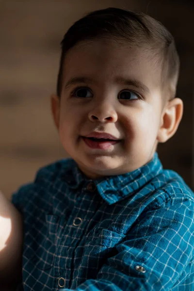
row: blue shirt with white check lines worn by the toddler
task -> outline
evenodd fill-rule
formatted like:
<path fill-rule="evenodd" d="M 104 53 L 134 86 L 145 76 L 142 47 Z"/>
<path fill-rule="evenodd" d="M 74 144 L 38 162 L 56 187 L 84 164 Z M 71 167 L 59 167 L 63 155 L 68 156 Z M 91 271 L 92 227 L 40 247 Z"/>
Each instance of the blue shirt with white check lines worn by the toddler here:
<path fill-rule="evenodd" d="M 12 202 L 24 219 L 19 291 L 194 291 L 194 193 L 157 152 L 97 180 L 63 159 Z"/>

